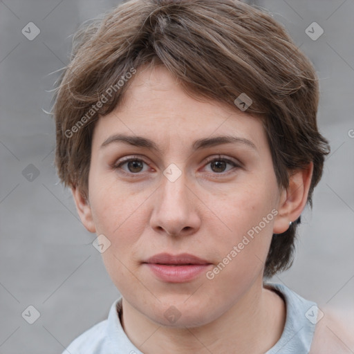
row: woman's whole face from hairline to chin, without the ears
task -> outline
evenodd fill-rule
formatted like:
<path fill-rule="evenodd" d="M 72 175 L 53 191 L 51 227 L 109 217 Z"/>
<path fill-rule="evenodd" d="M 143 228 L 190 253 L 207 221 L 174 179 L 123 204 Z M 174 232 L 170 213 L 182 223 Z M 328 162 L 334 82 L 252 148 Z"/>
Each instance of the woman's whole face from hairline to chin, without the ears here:
<path fill-rule="evenodd" d="M 189 97 L 165 68 L 131 80 L 95 127 L 84 223 L 109 239 L 104 264 L 133 308 L 159 324 L 174 311 L 176 326 L 207 324 L 262 281 L 277 232 L 282 194 L 265 131 L 236 106 Z M 234 140 L 215 139 L 225 136 Z M 199 261 L 147 263 L 161 253 Z"/>

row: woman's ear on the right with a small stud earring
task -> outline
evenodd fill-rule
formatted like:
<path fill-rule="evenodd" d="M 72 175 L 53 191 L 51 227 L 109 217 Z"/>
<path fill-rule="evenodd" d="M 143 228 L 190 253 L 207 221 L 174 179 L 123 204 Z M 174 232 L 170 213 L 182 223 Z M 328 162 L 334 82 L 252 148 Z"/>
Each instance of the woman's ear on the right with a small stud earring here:
<path fill-rule="evenodd" d="M 273 234 L 281 234 L 289 228 L 304 210 L 313 176 L 313 162 L 305 169 L 297 169 L 289 178 L 289 186 L 281 191 L 278 215 L 273 224 Z"/>

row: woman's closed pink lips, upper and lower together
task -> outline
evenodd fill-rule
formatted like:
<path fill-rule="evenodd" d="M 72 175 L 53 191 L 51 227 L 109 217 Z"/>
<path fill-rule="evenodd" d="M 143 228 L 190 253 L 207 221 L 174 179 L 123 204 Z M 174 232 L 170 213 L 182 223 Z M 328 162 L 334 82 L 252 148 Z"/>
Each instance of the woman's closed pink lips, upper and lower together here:
<path fill-rule="evenodd" d="M 183 283 L 192 281 L 211 265 L 209 261 L 193 254 L 160 253 L 143 262 L 149 270 L 162 281 L 169 283 Z"/>

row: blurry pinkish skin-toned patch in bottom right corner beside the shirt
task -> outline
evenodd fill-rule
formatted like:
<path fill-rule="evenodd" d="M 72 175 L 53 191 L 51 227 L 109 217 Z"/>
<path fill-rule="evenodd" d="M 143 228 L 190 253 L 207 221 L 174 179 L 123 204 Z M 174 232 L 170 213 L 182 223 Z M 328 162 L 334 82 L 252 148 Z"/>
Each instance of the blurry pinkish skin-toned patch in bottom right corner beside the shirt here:
<path fill-rule="evenodd" d="M 309 354 L 352 354 L 354 328 L 346 328 L 333 313 L 326 312 L 317 322 Z"/>

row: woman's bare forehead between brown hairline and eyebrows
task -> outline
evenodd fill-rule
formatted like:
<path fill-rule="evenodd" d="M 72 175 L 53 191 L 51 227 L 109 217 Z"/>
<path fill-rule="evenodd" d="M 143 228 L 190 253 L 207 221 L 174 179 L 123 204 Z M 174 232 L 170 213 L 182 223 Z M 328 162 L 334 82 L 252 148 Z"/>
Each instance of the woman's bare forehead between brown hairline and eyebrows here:
<path fill-rule="evenodd" d="M 215 100 L 188 95 L 166 68 L 142 69 L 134 75 L 122 102 L 100 117 L 95 142 L 113 133 L 146 136 L 157 145 L 179 145 L 213 136 L 232 135 L 251 140 L 257 148 L 266 143 L 261 120 Z M 166 147 L 166 146 L 165 146 Z"/>

